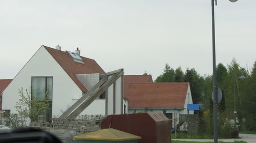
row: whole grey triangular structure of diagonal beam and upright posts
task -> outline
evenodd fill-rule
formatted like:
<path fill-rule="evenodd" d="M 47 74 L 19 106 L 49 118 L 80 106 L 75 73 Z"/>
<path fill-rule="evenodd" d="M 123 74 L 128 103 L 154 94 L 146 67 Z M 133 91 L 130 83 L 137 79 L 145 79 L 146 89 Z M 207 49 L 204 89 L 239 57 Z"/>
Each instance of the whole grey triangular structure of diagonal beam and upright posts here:
<path fill-rule="evenodd" d="M 95 99 L 105 92 L 105 115 L 123 113 L 123 69 L 106 73 L 86 94 L 78 99 L 59 118 L 76 118 Z"/>

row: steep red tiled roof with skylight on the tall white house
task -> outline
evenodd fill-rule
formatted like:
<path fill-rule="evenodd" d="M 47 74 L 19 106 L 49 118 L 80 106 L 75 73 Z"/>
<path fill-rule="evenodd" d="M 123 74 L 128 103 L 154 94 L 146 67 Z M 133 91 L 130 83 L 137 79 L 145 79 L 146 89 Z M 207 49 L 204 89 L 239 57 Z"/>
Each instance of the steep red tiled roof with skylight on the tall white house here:
<path fill-rule="evenodd" d="M 44 45 L 43 45 L 44 46 Z M 53 56 L 57 63 L 62 67 L 63 70 L 70 76 L 70 78 L 77 84 L 82 92 L 87 92 L 88 90 L 84 85 L 78 80 L 75 74 L 91 74 L 100 73 L 105 74 L 102 68 L 93 59 L 85 58 L 81 56 L 84 64 L 75 62 L 69 53 L 54 48 L 44 46 L 47 51 Z"/>

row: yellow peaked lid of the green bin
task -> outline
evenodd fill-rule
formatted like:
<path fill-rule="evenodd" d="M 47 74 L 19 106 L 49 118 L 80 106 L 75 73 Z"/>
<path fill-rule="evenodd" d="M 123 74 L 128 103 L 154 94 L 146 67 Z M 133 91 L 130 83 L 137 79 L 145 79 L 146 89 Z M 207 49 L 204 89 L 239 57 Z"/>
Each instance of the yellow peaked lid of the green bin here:
<path fill-rule="evenodd" d="M 74 139 L 122 141 L 122 140 L 141 139 L 141 137 L 110 128 L 110 129 L 103 129 L 103 130 L 99 130 L 99 131 L 95 131 L 87 134 L 74 136 Z"/>

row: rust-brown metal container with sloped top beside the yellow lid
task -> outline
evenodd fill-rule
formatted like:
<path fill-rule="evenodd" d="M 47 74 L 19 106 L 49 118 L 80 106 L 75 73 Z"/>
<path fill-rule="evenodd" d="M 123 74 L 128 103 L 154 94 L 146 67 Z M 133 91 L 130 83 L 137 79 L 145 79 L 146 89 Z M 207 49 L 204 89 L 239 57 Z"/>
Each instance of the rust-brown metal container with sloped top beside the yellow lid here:
<path fill-rule="evenodd" d="M 141 136 L 138 143 L 170 143 L 170 120 L 161 112 L 110 115 L 101 129 L 114 128 Z"/>

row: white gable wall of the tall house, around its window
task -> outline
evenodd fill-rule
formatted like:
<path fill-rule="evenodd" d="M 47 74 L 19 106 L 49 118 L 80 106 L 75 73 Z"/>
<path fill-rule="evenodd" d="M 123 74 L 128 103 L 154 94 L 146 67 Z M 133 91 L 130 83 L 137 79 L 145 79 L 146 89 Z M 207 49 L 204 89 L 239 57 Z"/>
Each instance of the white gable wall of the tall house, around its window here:
<path fill-rule="evenodd" d="M 72 103 L 72 98 L 80 98 L 81 90 L 68 74 L 59 66 L 51 54 L 40 47 L 32 56 L 29 62 L 15 76 L 12 82 L 3 92 L 3 109 L 10 109 L 11 113 L 17 113 L 15 104 L 20 98 L 18 89 L 31 87 L 32 76 L 52 76 L 53 77 L 53 115 L 61 115 L 60 109 L 65 109 Z M 25 94 L 26 95 L 26 94 Z"/>

